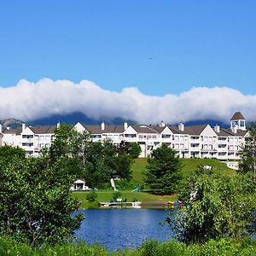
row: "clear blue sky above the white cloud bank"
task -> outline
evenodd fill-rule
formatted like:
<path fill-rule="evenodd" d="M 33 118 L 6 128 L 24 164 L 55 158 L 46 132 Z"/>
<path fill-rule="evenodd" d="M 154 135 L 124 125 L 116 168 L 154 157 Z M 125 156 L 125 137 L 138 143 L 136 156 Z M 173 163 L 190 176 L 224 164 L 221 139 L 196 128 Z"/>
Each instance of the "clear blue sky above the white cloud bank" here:
<path fill-rule="evenodd" d="M 255 94 L 256 1 L 1 1 L 0 86 L 82 79 L 179 94 Z"/>

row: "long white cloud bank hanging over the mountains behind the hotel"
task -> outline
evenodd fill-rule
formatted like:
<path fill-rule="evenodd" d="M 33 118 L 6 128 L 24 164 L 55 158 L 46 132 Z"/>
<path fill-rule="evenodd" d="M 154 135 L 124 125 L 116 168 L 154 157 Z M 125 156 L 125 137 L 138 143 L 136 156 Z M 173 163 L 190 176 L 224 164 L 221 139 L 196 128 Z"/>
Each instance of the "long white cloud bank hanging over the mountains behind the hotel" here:
<path fill-rule="evenodd" d="M 137 88 L 121 92 L 103 90 L 83 80 L 74 84 L 67 80 L 41 79 L 37 83 L 20 80 L 13 87 L 0 87 L 0 119 L 29 121 L 52 114 L 81 112 L 102 120 L 136 120 L 138 123 L 168 124 L 198 119 L 229 121 L 241 111 L 249 120 L 256 120 L 256 95 L 245 96 L 227 87 L 194 87 L 180 95 L 147 96 Z"/>

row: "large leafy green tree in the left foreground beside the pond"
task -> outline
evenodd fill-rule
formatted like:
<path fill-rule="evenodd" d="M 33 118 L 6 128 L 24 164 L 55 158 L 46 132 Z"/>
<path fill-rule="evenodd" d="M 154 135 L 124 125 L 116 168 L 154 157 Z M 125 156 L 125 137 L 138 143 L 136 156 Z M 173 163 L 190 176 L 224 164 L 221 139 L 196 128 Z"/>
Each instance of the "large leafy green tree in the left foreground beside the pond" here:
<path fill-rule="evenodd" d="M 73 177 L 60 160 L 13 158 L 0 160 L 0 235 L 14 236 L 32 246 L 68 241 L 83 217 L 70 187 Z"/>

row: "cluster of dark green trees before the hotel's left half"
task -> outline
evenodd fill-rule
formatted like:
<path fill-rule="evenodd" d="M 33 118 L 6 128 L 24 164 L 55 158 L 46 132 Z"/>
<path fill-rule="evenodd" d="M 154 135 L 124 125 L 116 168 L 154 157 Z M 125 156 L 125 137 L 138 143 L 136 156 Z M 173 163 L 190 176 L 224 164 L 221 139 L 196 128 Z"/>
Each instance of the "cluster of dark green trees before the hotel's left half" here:
<path fill-rule="evenodd" d="M 131 180 L 131 164 L 140 154 L 137 143 L 122 141 L 113 145 L 111 140 L 92 142 L 88 132 L 78 132 L 71 125 L 61 125 L 55 131 L 51 147 L 44 155 L 53 161 L 64 159 L 69 174 L 84 177 L 90 188 L 102 188 L 113 176 Z"/>

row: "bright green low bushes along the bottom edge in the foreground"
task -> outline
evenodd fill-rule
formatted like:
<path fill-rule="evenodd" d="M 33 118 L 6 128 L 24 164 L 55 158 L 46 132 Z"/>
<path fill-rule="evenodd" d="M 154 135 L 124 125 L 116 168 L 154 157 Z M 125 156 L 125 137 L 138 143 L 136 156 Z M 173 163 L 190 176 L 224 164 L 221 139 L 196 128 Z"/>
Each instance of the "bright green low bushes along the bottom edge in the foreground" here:
<path fill-rule="evenodd" d="M 26 244 L 17 243 L 9 238 L 0 238 L 0 255 L 1 256 L 199 256 L 199 255 L 256 255 L 256 241 L 242 240 L 234 241 L 232 239 L 221 239 L 219 241 L 210 240 L 203 245 L 185 245 L 182 242 L 174 240 L 159 242 L 145 241 L 142 246 L 134 249 L 119 250 L 109 253 L 106 247 L 100 245 L 87 246 L 83 242 L 55 247 L 42 247 L 34 249 Z"/>

